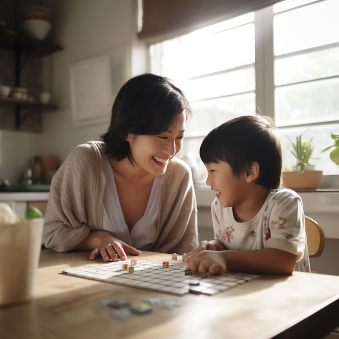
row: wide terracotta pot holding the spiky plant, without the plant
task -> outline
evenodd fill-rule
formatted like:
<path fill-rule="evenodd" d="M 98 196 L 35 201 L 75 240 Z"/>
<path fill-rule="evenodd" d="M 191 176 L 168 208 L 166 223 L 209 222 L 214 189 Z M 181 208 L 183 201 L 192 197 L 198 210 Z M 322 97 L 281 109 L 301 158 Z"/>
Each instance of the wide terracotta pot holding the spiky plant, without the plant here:
<path fill-rule="evenodd" d="M 306 170 L 302 174 L 296 171 L 283 172 L 283 188 L 304 189 L 318 188 L 322 180 L 322 170 Z"/>

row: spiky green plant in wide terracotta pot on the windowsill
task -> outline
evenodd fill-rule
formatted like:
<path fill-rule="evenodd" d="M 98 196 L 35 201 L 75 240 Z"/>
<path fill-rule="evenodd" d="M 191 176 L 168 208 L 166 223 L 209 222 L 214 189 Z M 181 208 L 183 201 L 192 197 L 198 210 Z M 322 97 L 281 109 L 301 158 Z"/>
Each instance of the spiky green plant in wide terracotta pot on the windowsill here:
<path fill-rule="evenodd" d="M 296 137 L 296 142 L 291 140 L 294 152 L 291 153 L 295 156 L 297 163 L 293 166 L 292 172 L 283 172 L 283 187 L 291 189 L 307 189 L 318 188 L 322 179 L 323 171 L 315 170 L 314 165 L 309 164 L 309 159 L 312 158 L 314 146 L 312 139 L 310 141 L 301 141 L 301 135 Z"/>

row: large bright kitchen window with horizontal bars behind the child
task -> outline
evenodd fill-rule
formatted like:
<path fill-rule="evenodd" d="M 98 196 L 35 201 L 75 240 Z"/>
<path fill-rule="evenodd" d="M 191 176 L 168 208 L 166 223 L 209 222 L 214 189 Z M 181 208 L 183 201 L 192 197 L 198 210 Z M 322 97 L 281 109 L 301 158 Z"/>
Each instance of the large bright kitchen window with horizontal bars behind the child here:
<path fill-rule="evenodd" d="M 288 137 L 305 133 L 302 140 L 313 137 L 313 154 L 321 157 L 312 160 L 316 169 L 338 174 L 329 153 L 321 153 L 339 132 L 337 13 L 338 0 L 286 0 L 151 45 L 152 71 L 171 78 L 194 109 L 181 156 L 201 169 L 204 136 L 258 106 L 280 128 L 284 167 L 295 164 Z"/>

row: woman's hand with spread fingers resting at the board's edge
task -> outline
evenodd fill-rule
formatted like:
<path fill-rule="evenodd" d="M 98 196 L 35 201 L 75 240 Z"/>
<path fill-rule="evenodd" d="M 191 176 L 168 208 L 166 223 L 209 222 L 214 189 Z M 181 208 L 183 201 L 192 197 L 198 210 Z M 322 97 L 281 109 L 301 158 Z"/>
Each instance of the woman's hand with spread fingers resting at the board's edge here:
<path fill-rule="evenodd" d="M 121 260 L 126 260 L 126 253 L 130 253 L 132 255 L 139 255 L 141 253 L 138 249 L 127 245 L 117 238 L 114 238 L 106 231 L 92 231 L 85 244 L 77 249 L 93 249 L 90 254 L 90 260 L 95 259 L 99 254 L 101 254 L 105 262 L 117 262 L 118 258 L 116 255 L 118 255 Z"/>

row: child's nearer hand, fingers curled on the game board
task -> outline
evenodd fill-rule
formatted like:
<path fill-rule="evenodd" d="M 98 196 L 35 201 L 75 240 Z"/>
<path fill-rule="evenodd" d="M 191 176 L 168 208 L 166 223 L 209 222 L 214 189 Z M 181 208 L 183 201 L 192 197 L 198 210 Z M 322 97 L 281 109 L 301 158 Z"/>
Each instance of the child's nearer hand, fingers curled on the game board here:
<path fill-rule="evenodd" d="M 197 253 L 196 255 L 190 256 L 185 260 L 185 262 L 188 262 L 186 268 L 202 273 L 210 272 L 212 275 L 224 274 L 227 271 L 227 267 L 229 265 L 224 252 L 225 251 L 205 250 Z"/>

